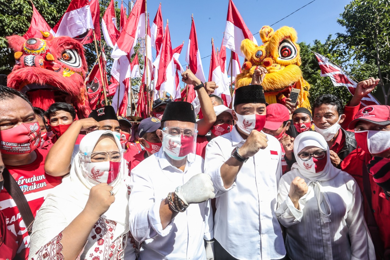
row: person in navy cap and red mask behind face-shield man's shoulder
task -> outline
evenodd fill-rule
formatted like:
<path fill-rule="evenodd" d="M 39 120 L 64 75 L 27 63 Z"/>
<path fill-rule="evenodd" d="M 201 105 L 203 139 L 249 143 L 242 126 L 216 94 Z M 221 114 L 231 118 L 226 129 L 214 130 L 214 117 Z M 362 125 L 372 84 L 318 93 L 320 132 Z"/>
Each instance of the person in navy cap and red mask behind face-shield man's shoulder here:
<path fill-rule="evenodd" d="M 161 129 L 161 121 L 158 118 L 145 118 L 141 121 L 138 126 L 138 141 L 145 150 L 142 150 L 140 153 L 131 154 L 125 153 L 124 158 L 128 161 L 129 173 L 130 171 L 142 162 L 147 157 L 151 156 L 154 153 L 157 153 L 161 148 L 160 137 L 156 134 L 156 131 Z"/>

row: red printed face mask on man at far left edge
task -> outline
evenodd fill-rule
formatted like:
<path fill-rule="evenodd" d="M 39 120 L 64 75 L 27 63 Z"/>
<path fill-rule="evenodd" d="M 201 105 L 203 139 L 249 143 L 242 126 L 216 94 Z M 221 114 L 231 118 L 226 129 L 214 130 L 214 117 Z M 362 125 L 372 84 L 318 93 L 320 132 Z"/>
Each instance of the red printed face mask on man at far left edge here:
<path fill-rule="evenodd" d="M 38 123 L 20 124 L 0 131 L 0 152 L 25 154 L 34 151 L 40 142 L 41 127 Z"/>

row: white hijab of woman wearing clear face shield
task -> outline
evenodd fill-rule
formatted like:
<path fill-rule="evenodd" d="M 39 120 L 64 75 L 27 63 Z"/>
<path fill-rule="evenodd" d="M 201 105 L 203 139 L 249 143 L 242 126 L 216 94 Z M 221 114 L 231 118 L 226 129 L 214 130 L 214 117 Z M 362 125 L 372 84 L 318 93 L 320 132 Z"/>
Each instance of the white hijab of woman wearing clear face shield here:
<path fill-rule="evenodd" d="M 80 152 L 74 157 L 70 174 L 64 177 L 62 183 L 52 189 L 52 192 L 48 194 L 48 197 L 50 196 L 51 199 L 58 202 L 57 208 L 67 217 L 67 219 L 73 220 L 80 214 L 87 203 L 90 189 L 95 186 L 94 183 L 89 182 L 84 177 L 83 167 L 81 166 L 82 159 L 80 157 L 84 152 L 93 151 L 97 141 L 103 134 L 113 133 L 110 130 L 97 130 L 83 137 L 80 142 Z M 122 149 L 121 142 L 114 136 L 113 138 L 118 149 Z M 113 240 L 115 240 L 116 237 L 129 232 L 129 194 L 124 182 L 124 178 L 127 174 L 126 163 L 124 158 L 122 158 L 118 178 L 111 183 L 111 186 L 113 186 L 112 191 L 115 194 L 115 201 L 101 216 L 117 223 Z"/>

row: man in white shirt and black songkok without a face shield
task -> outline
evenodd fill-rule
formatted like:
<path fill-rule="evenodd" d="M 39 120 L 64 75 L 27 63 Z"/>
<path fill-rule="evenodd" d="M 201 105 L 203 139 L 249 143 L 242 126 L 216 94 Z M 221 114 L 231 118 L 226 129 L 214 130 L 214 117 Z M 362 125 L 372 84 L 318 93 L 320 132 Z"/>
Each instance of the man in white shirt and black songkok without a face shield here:
<path fill-rule="evenodd" d="M 282 176 L 278 140 L 261 130 L 266 120 L 261 85 L 236 89 L 232 132 L 211 140 L 205 173 L 216 194 L 217 259 L 281 259 L 282 230 L 275 215 Z"/>

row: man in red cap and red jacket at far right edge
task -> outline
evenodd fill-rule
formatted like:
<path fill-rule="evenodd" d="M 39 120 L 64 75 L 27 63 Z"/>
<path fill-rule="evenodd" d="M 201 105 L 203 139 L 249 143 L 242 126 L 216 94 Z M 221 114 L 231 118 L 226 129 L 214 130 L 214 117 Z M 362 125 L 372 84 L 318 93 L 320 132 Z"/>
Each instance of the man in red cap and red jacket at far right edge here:
<path fill-rule="evenodd" d="M 359 148 L 341 162 L 341 169 L 355 178 L 362 191 L 365 219 L 378 259 L 390 259 L 390 201 L 378 185 L 386 182 L 390 169 L 390 106 L 360 109 L 349 129 L 355 130 Z"/>

